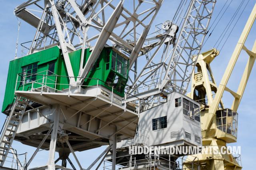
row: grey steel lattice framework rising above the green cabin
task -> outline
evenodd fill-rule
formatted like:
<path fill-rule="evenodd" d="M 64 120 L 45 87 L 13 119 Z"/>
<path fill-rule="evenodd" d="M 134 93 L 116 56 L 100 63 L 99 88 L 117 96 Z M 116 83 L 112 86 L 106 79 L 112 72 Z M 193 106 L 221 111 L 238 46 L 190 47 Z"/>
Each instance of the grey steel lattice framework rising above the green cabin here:
<path fill-rule="evenodd" d="M 15 9 L 15 14 L 37 28 L 30 48 L 26 47 L 28 54 L 57 43 L 70 77 L 74 73 L 68 51 L 82 48 L 84 52 L 93 47 L 85 66 L 80 66 L 79 77 L 85 77 L 106 44 L 125 51 L 132 66 L 162 3 L 163 0 L 28 0 Z M 81 84 L 82 80 L 75 82 L 73 78 L 72 84 Z"/>

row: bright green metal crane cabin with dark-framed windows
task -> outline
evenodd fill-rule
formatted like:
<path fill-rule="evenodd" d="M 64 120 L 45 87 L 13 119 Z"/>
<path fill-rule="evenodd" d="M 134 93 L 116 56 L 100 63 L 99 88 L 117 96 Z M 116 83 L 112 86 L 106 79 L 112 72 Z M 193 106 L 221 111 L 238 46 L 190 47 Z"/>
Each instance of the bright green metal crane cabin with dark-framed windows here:
<path fill-rule="evenodd" d="M 75 77 L 78 77 L 81 53 L 81 49 L 69 53 Z M 90 53 L 90 49 L 85 50 L 83 65 L 86 64 Z M 124 97 L 127 81 L 128 57 L 114 47 L 104 47 L 84 79 L 82 88 L 97 86 L 97 84 L 110 90 L 113 87 L 115 94 Z M 28 91 L 32 88 L 40 88 L 42 82 L 55 92 L 69 88 L 70 78 L 58 46 L 10 61 L 2 112 L 6 113 L 10 109 L 15 90 Z"/>

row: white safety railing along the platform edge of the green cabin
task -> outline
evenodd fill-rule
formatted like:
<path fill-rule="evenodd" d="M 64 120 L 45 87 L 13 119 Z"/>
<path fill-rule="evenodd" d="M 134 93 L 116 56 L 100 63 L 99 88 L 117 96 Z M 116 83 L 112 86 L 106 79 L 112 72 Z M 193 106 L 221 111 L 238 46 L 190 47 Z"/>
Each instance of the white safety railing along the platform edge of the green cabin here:
<path fill-rule="evenodd" d="M 60 80 L 62 79 L 62 80 Z M 88 82 L 90 81 L 90 84 L 71 84 L 71 80 L 82 80 L 82 82 Z M 60 83 L 62 82 L 62 83 Z M 124 98 L 120 97 L 118 94 L 115 93 L 115 90 L 118 91 L 118 89 L 113 85 L 110 86 L 106 82 L 97 79 L 97 78 L 84 78 L 84 77 L 70 77 L 70 76 L 59 76 L 57 74 L 54 74 L 53 72 L 50 72 L 49 70 L 45 70 L 42 72 L 38 72 L 36 74 L 31 73 L 19 73 L 17 74 L 16 78 L 16 86 L 15 90 L 17 91 L 32 91 L 32 92 L 40 92 L 42 95 L 44 92 L 51 92 L 51 93 L 64 93 L 70 96 L 72 94 L 73 88 L 90 88 L 90 87 L 98 87 L 102 84 L 106 84 L 110 89 L 111 92 L 106 92 L 106 96 L 111 101 L 111 104 L 116 103 L 120 106 L 124 106 L 124 109 L 129 109 L 130 111 L 133 111 L 135 113 L 140 113 L 141 111 L 141 104 L 140 104 L 140 98 L 136 98 L 136 100 L 128 101 L 126 100 L 126 96 L 133 96 L 132 94 L 128 94 L 127 92 L 124 92 Z M 96 93 L 97 97 L 98 92 Z"/>

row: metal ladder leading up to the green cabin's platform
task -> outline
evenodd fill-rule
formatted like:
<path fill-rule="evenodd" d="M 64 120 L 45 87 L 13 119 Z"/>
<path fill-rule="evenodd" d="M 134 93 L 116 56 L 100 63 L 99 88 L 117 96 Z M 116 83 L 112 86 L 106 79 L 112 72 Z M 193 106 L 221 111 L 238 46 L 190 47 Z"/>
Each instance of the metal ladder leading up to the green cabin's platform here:
<path fill-rule="evenodd" d="M 27 99 L 17 96 L 11 107 L 10 114 L 6 118 L 0 136 L 0 166 L 4 165 L 27 106 Z"/>

